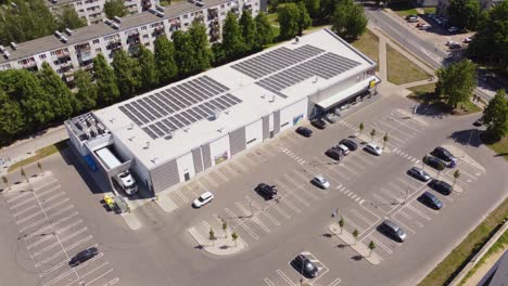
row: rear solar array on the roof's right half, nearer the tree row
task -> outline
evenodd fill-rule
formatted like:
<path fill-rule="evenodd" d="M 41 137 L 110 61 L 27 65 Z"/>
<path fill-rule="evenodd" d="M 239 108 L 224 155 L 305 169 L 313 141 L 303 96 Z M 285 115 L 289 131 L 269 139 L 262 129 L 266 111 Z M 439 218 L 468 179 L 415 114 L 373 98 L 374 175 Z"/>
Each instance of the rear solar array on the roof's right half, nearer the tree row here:
<path fill-rule="evenodd" d="M 234 64 L 231 67 L 249 77 L 257 79 L 316 56 L 322 52 L 325 51 L 309 44 L 304 44 L 294 50 L 282 47 Z"/>

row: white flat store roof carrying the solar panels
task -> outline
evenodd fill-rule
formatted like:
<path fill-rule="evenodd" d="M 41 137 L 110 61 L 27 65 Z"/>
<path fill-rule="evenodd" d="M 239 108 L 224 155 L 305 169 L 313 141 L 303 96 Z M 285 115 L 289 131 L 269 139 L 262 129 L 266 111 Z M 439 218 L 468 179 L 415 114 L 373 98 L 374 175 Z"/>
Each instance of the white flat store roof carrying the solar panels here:
<path fill-rule="evenodd" d="M 304 49 L 299 49 L 303 47 Z M 297 51 L 302 51 L 302 53 Z M 300 57 L 296 58 L 296 55 Z M 340 57 L 336 55 L 340 55 Z M 338 61 L 345 63 L 345 67 L 342 68 L 343 70 L 339 74 L 335 73 L 336 75 L 327 72 L 329 68 L 333 69 L 342 65 L 335 63 L 330 65 L 330 58 L 333 60 L 335 57 L 339 58 Z M 274 72 L 269 66 L 267 67 L 265 65 L 270 62 L 283 66 L 283 60 L 287 61 L 285 65 L 288 65 L 288 63 L 290 63 L 290 65 L 282 69 Z M 233 65 L 234 67 L 232 67 Z M 310 69 L 312 65 L 315 65 L 319 70 L 322 70 L 322 73 L 328 74 L 305 78 L 308 76 L 306 70 Z M 93 114 L 113 133 L 114 142 L 120 141 L 122 145 L 135 154 L 138 161 L 143 164 L 148 169 L 153 169 L 168 160 L 189 153 L 192 148 L 227 135 L 230 131 L 258 120 L 262 116 L 306 99 L 315 94 L 318 90 L 323 90 L 333 83 L 350 78 L 352 75 L 364 72 L 374 65 L 376 64 L 371 60 L 367 58 L 333 32 L 328 29 L 322 29 L 301 37 L 297 42 L 292 40 L 279 44 L 237 62 L 204 72 L 186 80 L 93 112 Z M 299 68 L 300 66 L 301 68 Z M 245 67 L 247 69 L 246 72 Z M 290 72 L 289 69 L 293 67 L 295 68 L 294 70 L 297 72 L 296 74 L 288 76 L 287 73 L 283 73 L 285 70 Z M 253 75 L 252 73 L 257 74 Z M 300 75 L 300 73 L 304 73 L 304 75 Z M 250 76 L 247 74 L 250 74 Z M 230 103 L 231 99 L 234 100 L 236 98 L 241 102 L 238 101 L 234 105 L 225 108 L 215 120 L 206 118 L 196 120 L 191 125 L 176 128 L 176 131 L 163 135 L 156 134 L 156 132 L 151 132 L 152 134 L 149 134 L 149 132 L 145 131 L 148 127 L 151 130 L 157 130 L 162 133 L 161 131 L 164 132 L 162 128 L 152 128 L 154 122 L 163 122 L 163 120 L 167 118 L 170 119 L 173 117 L 172 115 L 192 109 L 203 103 L 196 102 L 187 106 L 183 103 L 183 99 L 180 100 L 183 103 L 180 103 L 180 107 L 183 107 L 178 112 L 163 116 L 164 110 L 161 110 L 161 107 L 165 107 L 163 105 L 166 105 L 161 104 L 161 100 L 167 100 L 165 96 L 168 95 L 168 89 L 181 87 L 180 84 L 182 83 L 187 83 L 183 86 L 189 88 L 189 82 L 203 82 L 204 77 L 207 79 L 206 82 L 208 82 L 206 84 L 211 86 L 209 90 L 215 91 L 211 92 L 213 93 L 212 95 L 208 94 L 211 98 L 203 102 L 209 102 L 212 99 L 217 98 L 221 98 Z M 272 77 L 275 77 L 276 80 L 270 80 Z M 327 79 L 323 77 L 329 78 Z M 217 88 L 217 82 L 228 90 L 223 90 L 221 92 L 217 91 L 219 89 Z M 365 87 L 363 82 L 359 83 Z M 279 86 L 275 87 L 277 84 Z M 181 88 L 178 89 L 178 91 L 181 90 Z M 194 91 L 198 89 L 194 89 Z M 224 98 L 226 94 L 229 94 L 229 99 Z M 181 95 L 182 94 L 177 96 Z M 220 102 L 224 103 L 225 101 Z M 154 108 L 147 107 L 147 104 L 151 104 Z M 167 106 L 169 108 L 169 102 L 167 102 Z M 157 113 L 155 113 L 155 108 L 158 109 Z M 151 113 L 151 115 L 147 113 Z M 167 129 L 169 129 L 167 128 L 167 126 L 169 126 L 168 120 L 164 122 L 163 126 L 167 131 Z M 180 120 L 180 122 L 182 121 Z M 162 123 L 160 123 L 160 126 L 161 125 Z M 170 135 L 173 135 L 170 139 L 166 139 Z"/>

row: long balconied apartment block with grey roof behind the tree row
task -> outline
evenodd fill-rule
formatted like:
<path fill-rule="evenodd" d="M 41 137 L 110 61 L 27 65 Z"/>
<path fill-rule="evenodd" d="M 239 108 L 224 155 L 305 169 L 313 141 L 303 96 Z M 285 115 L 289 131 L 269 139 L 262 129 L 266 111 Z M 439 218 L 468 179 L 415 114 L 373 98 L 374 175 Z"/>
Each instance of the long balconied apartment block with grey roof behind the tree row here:
<path fill-rule="evenodd" d="M 64 81 L 72 84 L 74 72 L 90 70 L 98 53 L 104 54 L 111 63 L 114 52 L 119 49 L 134 53 L 143 44 L 153 51 L 157 37 L 170 39 L 174 31 L 187 30 L 194 20 L 204 23 L 209 41 L 214 42 L 220 39 L 228 11 L 240 15 L 244 10 L 252 10 L 253 15 L 257 15 L 261 8 L 266 8 L 266 0 L 204 0 L 178 2 L 165 9 L 157 6 L 76 30 L 65 29 L 31 41 L 0 46 L 3 55 L 0 70 L 25 68 L 35 72 L 48 62 Z"/>

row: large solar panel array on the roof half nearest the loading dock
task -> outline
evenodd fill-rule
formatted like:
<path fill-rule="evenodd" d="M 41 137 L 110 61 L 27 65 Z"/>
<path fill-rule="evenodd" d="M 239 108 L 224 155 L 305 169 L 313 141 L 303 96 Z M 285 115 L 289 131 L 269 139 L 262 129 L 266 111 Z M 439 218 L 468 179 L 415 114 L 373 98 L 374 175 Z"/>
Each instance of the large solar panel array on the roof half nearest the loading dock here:
<path fill-rule="evenodd" d="M 169 139 L 172 131 L 242 102 L 229 93 L 224 94 L 229 89 L 220 82 L 202 76 L 120 105 L 118 109 L 152 139 Z"/>

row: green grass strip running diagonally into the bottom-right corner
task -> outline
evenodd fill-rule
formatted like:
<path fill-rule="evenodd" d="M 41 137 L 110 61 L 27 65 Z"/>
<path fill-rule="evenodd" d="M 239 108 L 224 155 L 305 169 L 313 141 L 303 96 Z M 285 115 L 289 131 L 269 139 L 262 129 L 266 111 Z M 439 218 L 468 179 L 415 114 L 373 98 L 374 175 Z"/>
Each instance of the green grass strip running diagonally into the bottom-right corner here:
<path fill-rule="evenodd" d="M 508 218 L 508 199 L 505 199 L 480 223 L 440 264 L 419 284 L 419 286 L 446 285 L 463 268 L 474 253 L 493 235 L 494 231 Z"/>

